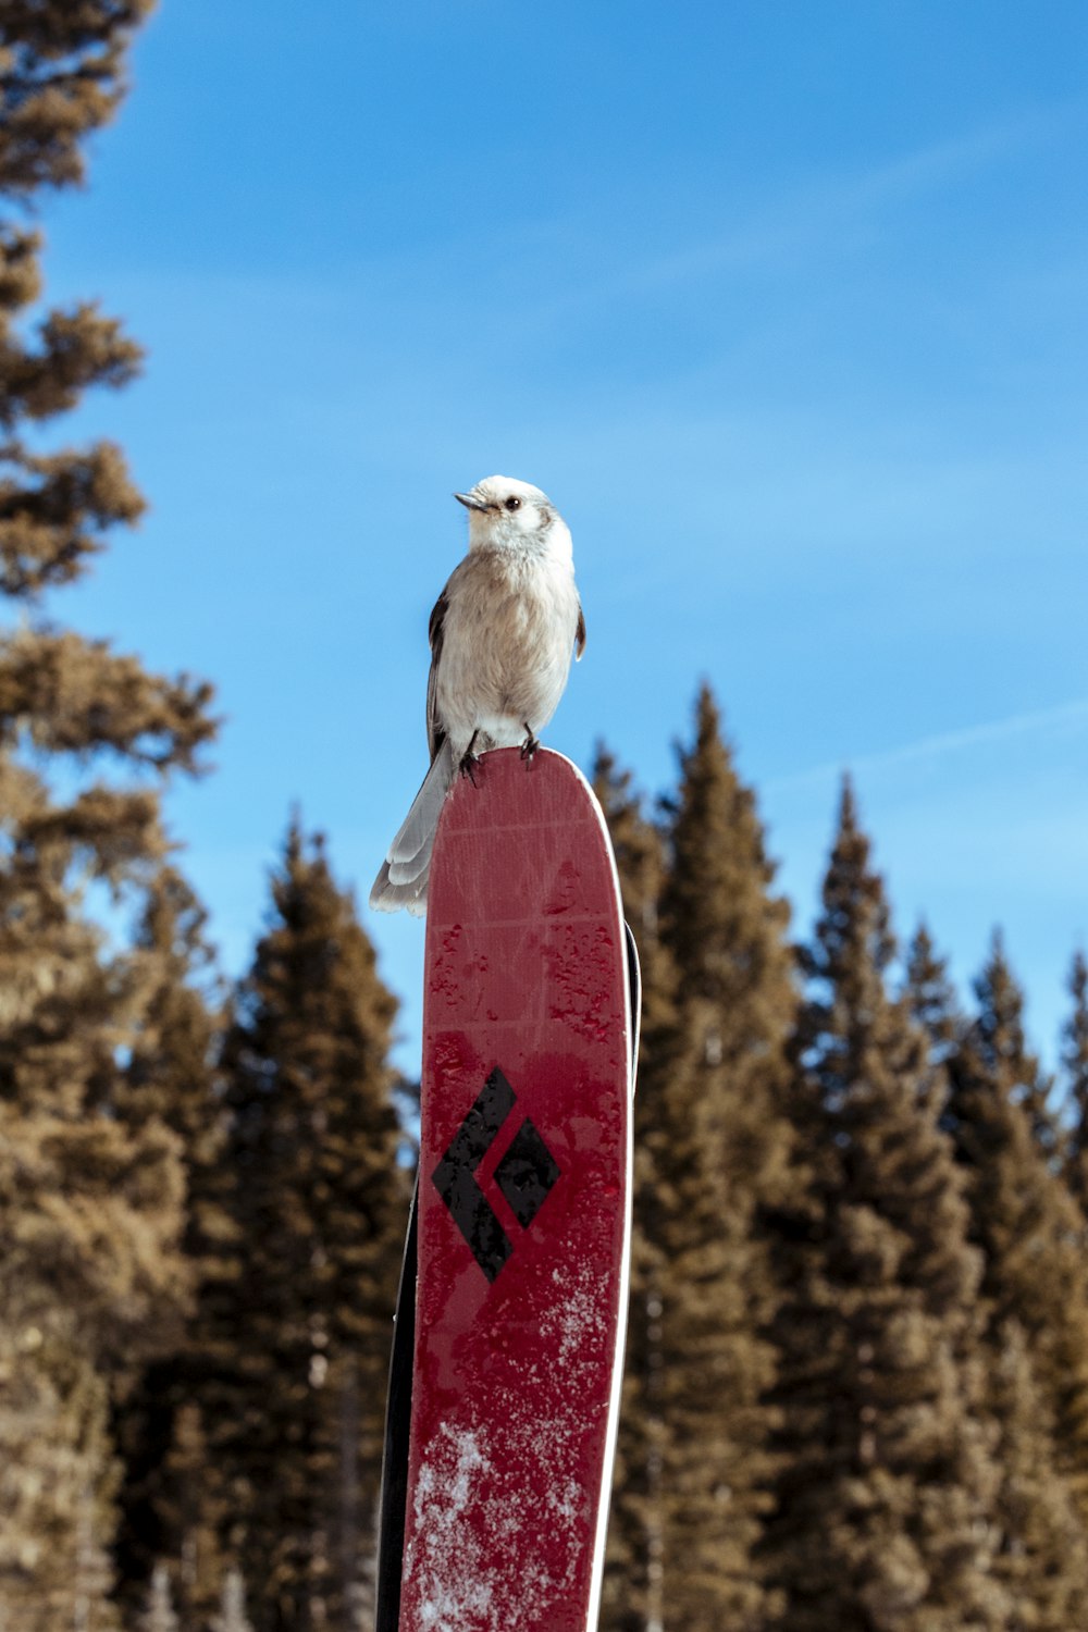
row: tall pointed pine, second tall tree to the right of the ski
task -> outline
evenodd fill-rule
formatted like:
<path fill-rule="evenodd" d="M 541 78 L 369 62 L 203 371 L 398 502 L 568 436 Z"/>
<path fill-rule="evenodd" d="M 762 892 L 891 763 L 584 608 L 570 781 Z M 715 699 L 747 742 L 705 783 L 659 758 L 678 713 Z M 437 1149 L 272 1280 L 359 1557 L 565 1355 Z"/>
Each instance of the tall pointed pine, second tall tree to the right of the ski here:
<path fill-rule="evenodd" d="M 783 1426 L 767 1532 L 789 1632 L 1005 1632 L 982 1417 L 979 1253 L 884 886 L 843 788 L 803 968 L 794 1121 L 807 1191 L 781 1211 Z"/>

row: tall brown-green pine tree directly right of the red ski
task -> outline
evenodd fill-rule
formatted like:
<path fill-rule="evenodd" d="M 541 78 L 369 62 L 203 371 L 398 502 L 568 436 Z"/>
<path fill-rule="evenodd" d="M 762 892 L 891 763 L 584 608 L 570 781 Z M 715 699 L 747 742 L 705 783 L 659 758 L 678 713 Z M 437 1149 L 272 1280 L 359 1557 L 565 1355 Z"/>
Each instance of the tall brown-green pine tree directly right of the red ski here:
<path fill-rule="evenodd" d="M 757 1221 L 786 1185 L 776 1106 L 793 1010 L 786 907 L 706 689 L 662 837 L 599 767 L 648 1004 L 610 1625 L 742 1629 L 767 1608 L 773 1299 Z M 649 934 L 648 934 L 649 929 Z M 625 1580 L 626 1575 L 626 1580 Z"/>

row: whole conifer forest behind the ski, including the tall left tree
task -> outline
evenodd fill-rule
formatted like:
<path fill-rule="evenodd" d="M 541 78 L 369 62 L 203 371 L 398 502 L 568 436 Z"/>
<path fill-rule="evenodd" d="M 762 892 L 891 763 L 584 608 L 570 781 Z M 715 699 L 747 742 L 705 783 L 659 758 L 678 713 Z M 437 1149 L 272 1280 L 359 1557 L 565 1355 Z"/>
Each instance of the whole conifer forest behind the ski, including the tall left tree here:
<path fill-rule="evenodd" d="M 144 506 L 64 416 L 140 349 L 41 310 L 38 217 L 148 10 L 0 0 L 0 1632 L 359 1632 L 396 1004 L 302 818 L 223 979 L 161 811 L 212 685 L 64 623 Z M 592 780 L 644 978 L 604 1632 L 1088 1629 L 1083 953 L 1054 1077 L 1000 934 L 959 992 L 892 924 L 850 783 L 794 940 L 708 687 L 661 798 Z"/>

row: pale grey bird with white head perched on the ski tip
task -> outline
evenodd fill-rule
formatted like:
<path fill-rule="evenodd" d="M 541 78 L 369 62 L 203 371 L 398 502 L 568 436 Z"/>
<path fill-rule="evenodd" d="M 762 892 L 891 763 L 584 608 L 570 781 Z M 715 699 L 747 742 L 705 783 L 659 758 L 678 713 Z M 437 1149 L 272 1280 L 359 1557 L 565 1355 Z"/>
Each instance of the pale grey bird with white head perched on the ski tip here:
<path fill-rule="evenodd" d="M 532 764 L 571 656 L 586 650 L 571 532 L 551 499 L 514 477 L 484 477 L 453 498 L 468 511 L 468 555 L 431 612 L 431 769 L 374 881 L 378 912 L 422 917 L 434 836 L 457 775 L 475 783 L 480 754 L 493 747 L 520 747 Z"/>

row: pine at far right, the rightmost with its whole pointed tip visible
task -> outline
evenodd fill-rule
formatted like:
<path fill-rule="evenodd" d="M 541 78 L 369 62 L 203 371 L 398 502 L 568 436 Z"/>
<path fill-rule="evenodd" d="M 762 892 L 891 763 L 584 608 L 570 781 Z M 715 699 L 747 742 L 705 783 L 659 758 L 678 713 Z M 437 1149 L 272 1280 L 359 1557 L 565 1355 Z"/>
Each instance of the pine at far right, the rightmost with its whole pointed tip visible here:
<path fill-rule="evenodd" d="M 1034 1133 L 1042 1079 L 1028 1051 L 1023 996 L 995 937 L 975 982 L 979 1013 L 949 1059 L 943 1123 L 967 1177 L 972 1240 L 992 1345 L 1006 1322 L 1026 1337 L 1055 1425 L 1055 1467 L 1088 1523 L 1088 1296 L 1080 1209 Z M 1088 1612 L 1088 1611 L 1086 1611 Z"/>

